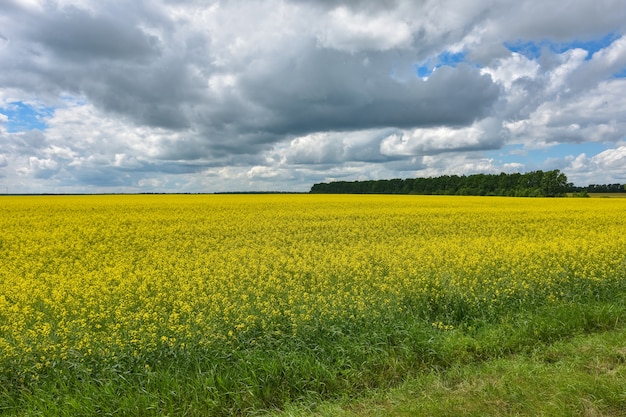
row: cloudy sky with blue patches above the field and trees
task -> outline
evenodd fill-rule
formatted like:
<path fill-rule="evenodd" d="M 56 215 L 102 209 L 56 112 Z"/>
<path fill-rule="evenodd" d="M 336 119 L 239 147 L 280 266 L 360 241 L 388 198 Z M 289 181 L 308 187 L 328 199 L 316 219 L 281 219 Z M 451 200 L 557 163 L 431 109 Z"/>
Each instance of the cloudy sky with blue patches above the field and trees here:
<path fill-rule="evenodd" d="M 623 0 L 0 0 L 0 194 L 626 183 Z"/>

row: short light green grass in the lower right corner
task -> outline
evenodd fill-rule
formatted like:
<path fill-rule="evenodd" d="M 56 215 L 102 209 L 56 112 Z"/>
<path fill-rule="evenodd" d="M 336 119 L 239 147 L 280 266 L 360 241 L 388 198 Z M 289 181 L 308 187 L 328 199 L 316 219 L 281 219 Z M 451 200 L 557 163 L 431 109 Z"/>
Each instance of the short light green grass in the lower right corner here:
<path fill-rule="evenodd" d="M 455 363 L 367 398 L 291 406 L 286 416 L 626 416 L 626 328 Z"/>

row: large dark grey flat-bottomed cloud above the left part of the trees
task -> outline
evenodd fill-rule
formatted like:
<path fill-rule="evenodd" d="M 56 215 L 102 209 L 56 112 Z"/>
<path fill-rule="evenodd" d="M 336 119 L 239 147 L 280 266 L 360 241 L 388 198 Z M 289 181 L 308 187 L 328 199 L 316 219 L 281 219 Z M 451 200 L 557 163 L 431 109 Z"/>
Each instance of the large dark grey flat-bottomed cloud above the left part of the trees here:
<path fill-rule="evenodd" d="M 276 133 L 382 127 L 467 125 L 485 116 L 499 88 L 466 65 L 443 67 L 428 80 L 396 80 L 393 68 L 363 64 L 363 57 L 317 49 L 244 81 L 248 96 L 270 109 Z"/>

